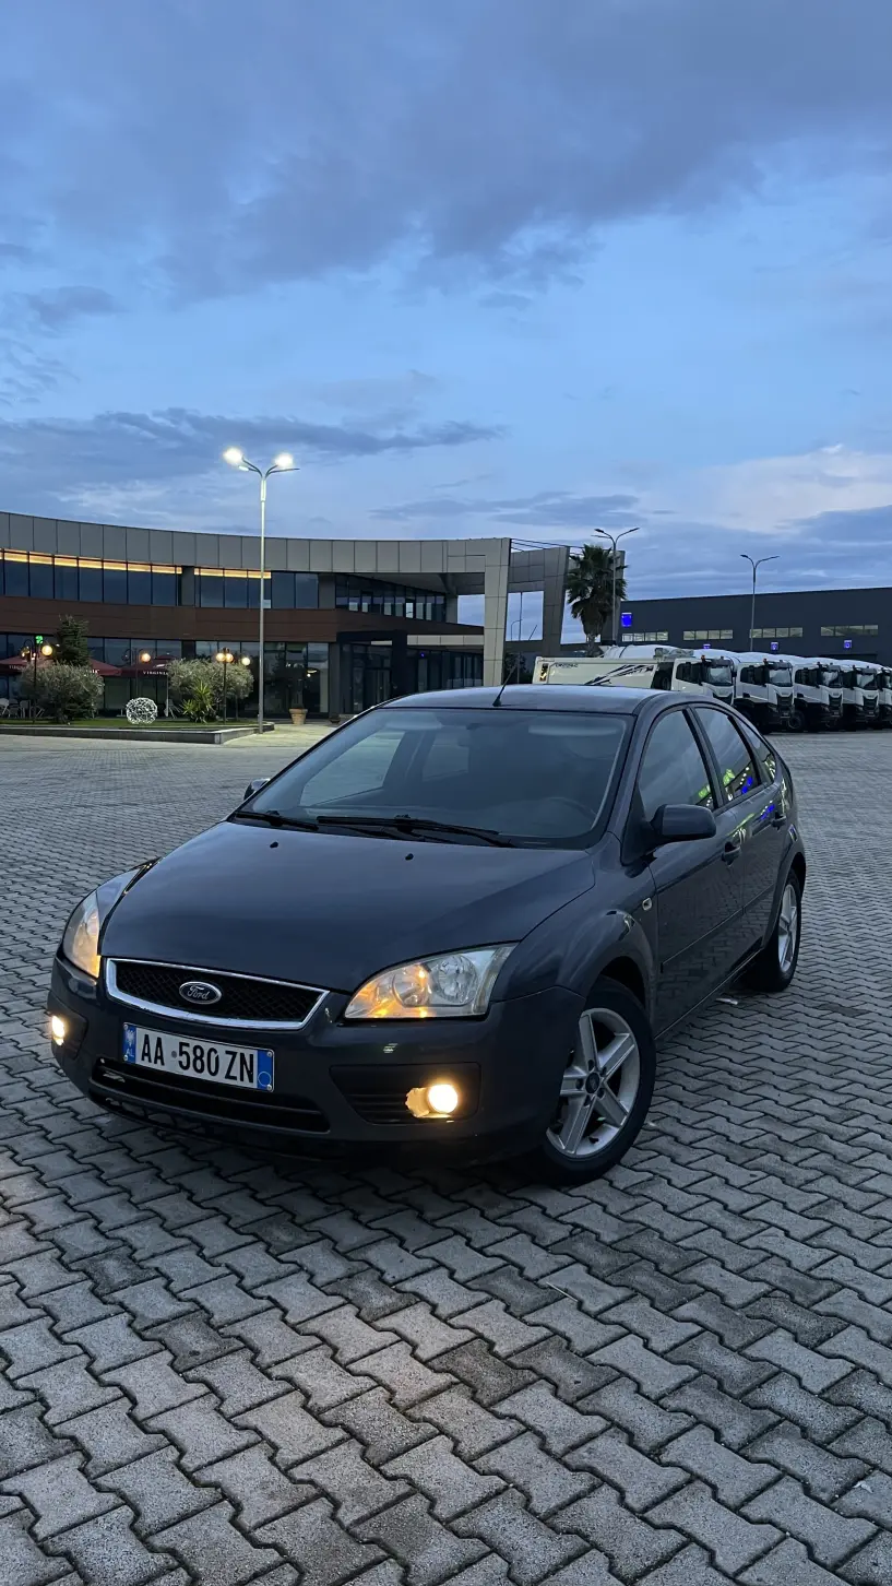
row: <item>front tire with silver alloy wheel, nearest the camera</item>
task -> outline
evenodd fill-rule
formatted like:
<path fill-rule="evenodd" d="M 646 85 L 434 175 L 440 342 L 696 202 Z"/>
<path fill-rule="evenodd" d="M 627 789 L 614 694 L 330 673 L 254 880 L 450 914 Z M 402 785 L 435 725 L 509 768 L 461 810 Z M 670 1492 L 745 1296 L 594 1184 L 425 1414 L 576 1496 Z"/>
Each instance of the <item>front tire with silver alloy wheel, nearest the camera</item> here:
<path fill-rule="evenodd" d="M 635 996 L 600 979 L 577 1026 L 539 1167 L 555 1183 L 588 1183 L 613 1167 L 650 1110 L 656 1044 Z"/>

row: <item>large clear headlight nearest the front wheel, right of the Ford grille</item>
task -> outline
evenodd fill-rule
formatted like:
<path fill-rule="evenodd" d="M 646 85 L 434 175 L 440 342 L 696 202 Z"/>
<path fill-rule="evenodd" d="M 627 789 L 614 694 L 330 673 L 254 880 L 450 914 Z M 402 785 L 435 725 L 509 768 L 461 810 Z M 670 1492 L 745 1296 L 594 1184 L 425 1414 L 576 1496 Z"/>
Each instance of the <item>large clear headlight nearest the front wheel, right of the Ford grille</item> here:
<path fill-rule="evenodd" d="M 512 947 L 513 942 L 475 947 L 385 969 L 360 986 L 344 1018 L 472 1018 L 485 1013 Z"/>

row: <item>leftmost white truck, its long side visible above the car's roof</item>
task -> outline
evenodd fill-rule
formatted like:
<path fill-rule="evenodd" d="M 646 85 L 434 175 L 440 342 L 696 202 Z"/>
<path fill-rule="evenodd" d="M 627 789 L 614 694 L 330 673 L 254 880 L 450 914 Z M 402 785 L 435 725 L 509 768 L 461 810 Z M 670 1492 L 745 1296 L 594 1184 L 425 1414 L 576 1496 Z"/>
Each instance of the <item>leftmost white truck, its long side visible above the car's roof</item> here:
<path fill-rule="evenodd" d="M 602 655 L 539 655 L 532 677 L 537 684 L 705 693 L 726 704 L 734 703 L 734 676 L 726 660 L 661 644 L 608 646 Z"/>

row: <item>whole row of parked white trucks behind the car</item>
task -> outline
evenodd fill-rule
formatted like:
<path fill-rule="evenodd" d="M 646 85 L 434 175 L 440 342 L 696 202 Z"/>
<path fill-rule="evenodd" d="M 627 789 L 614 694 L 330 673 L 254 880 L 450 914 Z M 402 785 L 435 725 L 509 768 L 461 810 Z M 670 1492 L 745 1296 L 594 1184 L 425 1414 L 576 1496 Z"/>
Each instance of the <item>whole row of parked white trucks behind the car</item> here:
<path fill-rule="evenodd" d="M 876 661 L 623 644 L 600 655 L 540 655 L 532 676 L 537 684 L 705 693 L 737 706 L 762 731 L 892 726 L 892 666 Z"/>

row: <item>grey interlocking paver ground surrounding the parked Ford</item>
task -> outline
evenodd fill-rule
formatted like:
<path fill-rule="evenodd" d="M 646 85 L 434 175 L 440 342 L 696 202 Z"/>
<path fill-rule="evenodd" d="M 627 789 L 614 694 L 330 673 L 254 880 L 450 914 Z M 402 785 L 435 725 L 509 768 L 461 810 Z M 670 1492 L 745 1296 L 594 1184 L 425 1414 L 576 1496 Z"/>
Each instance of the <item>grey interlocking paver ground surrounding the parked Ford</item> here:
<path fill-rule="evenodd" d="M 0 742 L 3 1586 L 892 1583 L 890 737 L 794 739 L 799 980 L 607 1182 L 282 1169 L 43 1039 L 100 877 L 284 755 Z"/>

